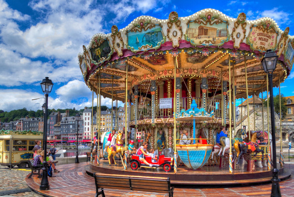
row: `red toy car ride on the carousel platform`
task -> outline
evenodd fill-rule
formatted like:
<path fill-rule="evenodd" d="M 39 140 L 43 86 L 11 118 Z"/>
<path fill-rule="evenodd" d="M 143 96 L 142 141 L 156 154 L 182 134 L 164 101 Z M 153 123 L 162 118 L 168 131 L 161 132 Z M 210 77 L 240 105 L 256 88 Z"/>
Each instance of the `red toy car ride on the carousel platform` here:
<path fill-rule="evenodd" d="M 173 158 L 171 157 L 165 157 L 164 155 L 159 155 L 159 157 L 156 159 L 157 162 L 152 162 L 152 159 L 150 156 L 146 156 L 145 160 L 151 164 L 153 169 L 156 169 L 158 167 L 162 166 L 162 169 L 166 172 L 169 172 L 172 170 L 173 167 Z M 130 161 L 131 169 L 136 170 L 139 167 L 142 168 L 150 168 L 149 166 L 145 165 L 142 161 L 139 159 L 139 155 L 132 155 L 132 160 Z"/>

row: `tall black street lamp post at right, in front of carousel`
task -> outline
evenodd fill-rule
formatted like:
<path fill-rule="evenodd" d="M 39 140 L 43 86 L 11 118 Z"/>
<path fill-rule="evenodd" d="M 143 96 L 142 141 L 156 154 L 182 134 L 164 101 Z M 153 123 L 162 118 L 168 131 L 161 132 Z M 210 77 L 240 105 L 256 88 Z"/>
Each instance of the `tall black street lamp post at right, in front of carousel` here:
<path fill-rule="evenodd" d="M 273 158 L 273 169 L 272 169 L 272 185 L 271 185 L 271 197 L 281 197 L 280 191 L 280 179 L 278 177 L 279 170 L 277 169 L 276 159 L 276 144 L 275 144 L 275 128 L 274 128 L 274 109 L 273 109 L 273 93 L 272 93 L 272 73 L 276 67 L 278 56 L 275 52 L 268 50 L 262 59 L 261 63 L 265 72 L 269 76 L 270 84 L 270 120 L 271 120 L 271 135 L 272 135 L 272 158 Z"/>

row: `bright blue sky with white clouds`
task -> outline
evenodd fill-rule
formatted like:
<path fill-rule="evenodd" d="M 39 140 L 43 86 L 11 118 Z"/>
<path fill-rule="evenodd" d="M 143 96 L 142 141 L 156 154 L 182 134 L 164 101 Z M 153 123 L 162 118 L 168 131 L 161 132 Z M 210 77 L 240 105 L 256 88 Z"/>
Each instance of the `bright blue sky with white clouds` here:
<path fill-rule="evenodd" d="M 78 66 L 78 53 L 96 33 L 110 33 L 111 27 L 126 27 L 148 15 L 168 19 L 213 8 L 247 20 L 270 17 L 294 35 L 294 6 L 290 0 L 0 0 L 0 110 L 41 110 L 44 94 L 40 83 L 53 82 L 49 109 L 82 109 L 92 106 L 92 92 Z M 294 95 L 294 72 L 281 84 L 284 96 Z M 273 94 L 278 93 L 274 88 Z M 94 106 L 97 101 L 94 96 Z M 238 103 L 237 103 L 238 104 Z M 101 105 L 111 107 L 111 100 Z M 119 106 L 123 106 L 119 102 Z"/>

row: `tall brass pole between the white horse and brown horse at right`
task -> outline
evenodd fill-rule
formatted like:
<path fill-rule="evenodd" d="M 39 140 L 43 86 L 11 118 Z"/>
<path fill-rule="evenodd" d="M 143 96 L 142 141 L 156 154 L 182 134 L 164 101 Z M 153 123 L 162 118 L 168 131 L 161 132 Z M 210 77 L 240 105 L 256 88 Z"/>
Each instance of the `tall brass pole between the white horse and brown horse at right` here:
<path fill-rule="evenodd" d="M 229 138 L 230 138 L 230 141 L 232 141 L 232 108 L 231 108 L 231 100 L 232 100 L 232 90 L 231 90 L 231 87 L 232 87 L 232 84 L 231 84 L 231 56 L 229 54 L 229 92 L 230 92 L 230 95 L 229 95 Z M 229 171 L 230 173 L 233 172 L 233 164 L 232 164 L 232 161 L 233 161 L 233 154 L 232 154 L 232 143 L 230 143 L 230 153 L 229 153 L 229 157 L 230 157 L 230 160 L 229 160 Z"/>

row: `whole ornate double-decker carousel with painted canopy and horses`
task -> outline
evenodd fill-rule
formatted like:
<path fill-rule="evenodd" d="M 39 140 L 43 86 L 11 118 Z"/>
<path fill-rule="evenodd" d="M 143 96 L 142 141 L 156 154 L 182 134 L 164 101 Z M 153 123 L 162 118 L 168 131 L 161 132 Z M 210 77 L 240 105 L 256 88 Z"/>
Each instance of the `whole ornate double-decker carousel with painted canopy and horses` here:
<path fill-rule="evenodd" d="M 255 120 L 248 117 L 247 131 L 237 130 L 235 101 L 269 94 L 262 66 L 266 53 L 276 57 L 274 86 L 290 75 L 294 37 L 288 33 L 289 28 L 282 31 L 270 18 L 248 21 L 245 13 L 235 19 L 204 9 L 187 17 L 171 12 L 166 20 L 140 16 L 123 29 L 114 25 L 109 34 L 95 34 L 78 55 L 79 66 L 93 98 L 94 93 L 98 97 L 97 106 L 101 96 L 111 98 L 116 109 L 118 101 L 124 103 L 125 130 L 112 148 L 107 144 L 110 131 L 97 132 L 102 149 L 91 153 L 87 171 L 170 177 L 172 184 L 270 181 L 269 121 L 256 132 L 250 128 Z M 92 134 L 101 131 L 99 109 Z M 111 122 L 118 131 L 116 114 L 112 110 Z M 218 145 L 223 126 L 227 137 Z M 181 142 L 186 131 L 188 144 Z M 146 157 L 149 166 L 140 162 L 136 151 L 128 151 L 130 141 L 136 149 L 148 142 L 157 161 Z M 244 141 L 257 146 L 247 145 L 243 152 Z M 279 177 L 289 176 L 281 165 Z"/>

